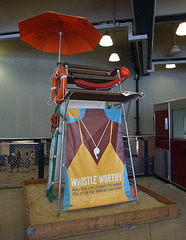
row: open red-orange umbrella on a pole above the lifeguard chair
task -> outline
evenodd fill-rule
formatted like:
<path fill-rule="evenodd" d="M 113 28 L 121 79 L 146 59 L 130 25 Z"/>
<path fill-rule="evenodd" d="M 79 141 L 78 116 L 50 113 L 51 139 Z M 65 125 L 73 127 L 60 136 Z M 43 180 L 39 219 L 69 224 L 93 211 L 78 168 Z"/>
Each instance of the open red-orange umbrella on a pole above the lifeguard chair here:
<path fill-rule="evenodd" d="M 20 39 L 44 51 L 71 55 L 91 51 L 102 34 L 84 17 L 43 12 L 19 22 Z"/>

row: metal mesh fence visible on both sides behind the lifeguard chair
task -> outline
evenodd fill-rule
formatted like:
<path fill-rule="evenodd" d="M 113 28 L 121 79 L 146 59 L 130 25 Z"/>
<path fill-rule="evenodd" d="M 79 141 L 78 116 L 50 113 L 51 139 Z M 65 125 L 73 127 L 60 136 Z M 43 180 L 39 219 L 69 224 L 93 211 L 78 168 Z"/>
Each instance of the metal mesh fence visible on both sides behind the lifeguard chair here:
<path fill-rule="evenodd" d="M 132 176 L 128 142 L 123 141 L 128 175 Z M 154 140 L 131 139 L 134 170 L 137 176 L 154 173 Z M 47 178 L 50 142 L 0 143 L 0 187 L 21 186 L 23 180 Z"/>

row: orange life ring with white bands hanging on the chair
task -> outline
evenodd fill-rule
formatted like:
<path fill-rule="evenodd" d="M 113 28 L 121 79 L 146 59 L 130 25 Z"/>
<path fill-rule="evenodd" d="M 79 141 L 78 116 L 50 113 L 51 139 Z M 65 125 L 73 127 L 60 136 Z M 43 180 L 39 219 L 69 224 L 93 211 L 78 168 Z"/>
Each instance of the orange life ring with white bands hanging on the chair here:
<path fill-rule="evenodd" d="M 60 104 L 62 102 L 63 97 L 65 95 L 66 86 L 67 86 L 66 70 L 63 67 L 63 65 L 59 65 L 55 69 L 51 86 L 51 98 L 55 104 Z"/>

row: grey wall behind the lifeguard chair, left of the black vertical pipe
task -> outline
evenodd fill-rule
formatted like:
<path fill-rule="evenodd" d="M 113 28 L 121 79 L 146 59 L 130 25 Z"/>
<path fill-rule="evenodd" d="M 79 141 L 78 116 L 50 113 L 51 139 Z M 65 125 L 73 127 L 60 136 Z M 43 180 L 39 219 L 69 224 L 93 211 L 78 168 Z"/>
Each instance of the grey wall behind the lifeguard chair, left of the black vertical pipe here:
<path fill-rule="evenodd" d="M 122 84 L 123 90 L 135 90 L 130 51 L 121 54 L 120 63 L 109 63 L 112 49 L 100 46 L 95 51 L 62 55 L 62 61 L 91 66 L 116 66 L 129 68 L 131 75 Z M 98 57 L 98 52 L 102 54 Z M 57 54 L 44 53 L 17 40 L 0 42 L 0 138 L 51 137 L 50 118 L 54 105 L 49 106 L 52 76 L 57 64 Z M 73 87 L 73 86 L 69 86 Z M 115 88 L 114 91 L 118 91 Z M 133 112 L 133 110 L 132 110 Z M 133 131 L 133 114 L 129 117 Z"/>

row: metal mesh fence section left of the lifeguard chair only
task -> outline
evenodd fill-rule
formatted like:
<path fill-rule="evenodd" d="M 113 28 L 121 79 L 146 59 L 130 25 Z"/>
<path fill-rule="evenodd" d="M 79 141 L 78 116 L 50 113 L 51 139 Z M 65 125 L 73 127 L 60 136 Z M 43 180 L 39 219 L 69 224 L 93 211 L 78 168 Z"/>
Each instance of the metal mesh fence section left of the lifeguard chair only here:
<path fill-rule="evenodd" d="M 19 186 L 23 180 L 46 178 L 50 143 L 0 143 L 0 186 Z"/>

